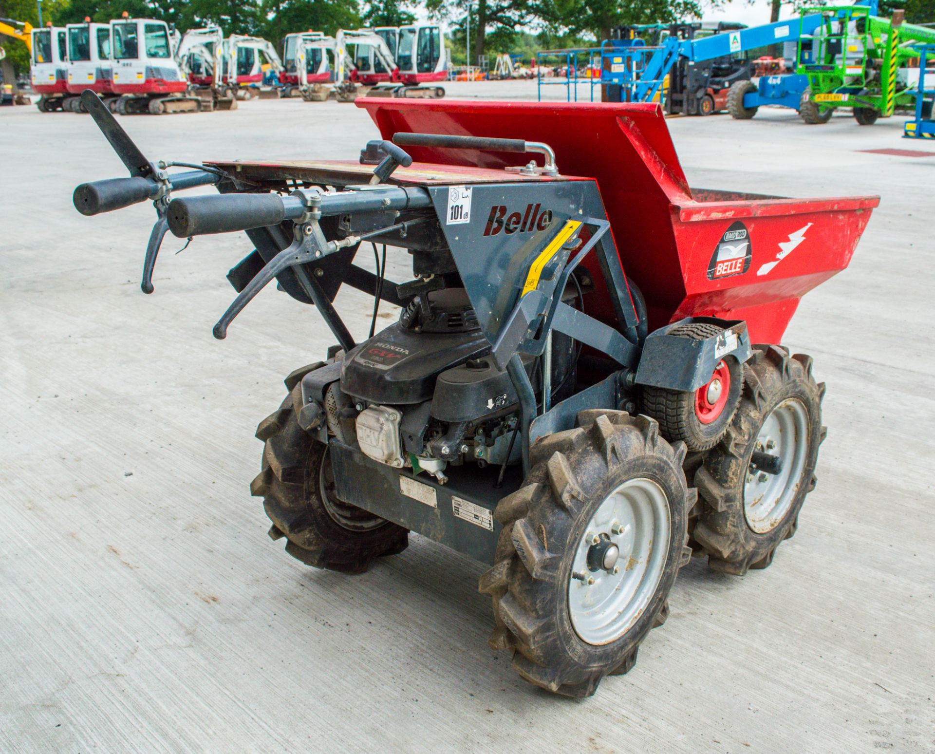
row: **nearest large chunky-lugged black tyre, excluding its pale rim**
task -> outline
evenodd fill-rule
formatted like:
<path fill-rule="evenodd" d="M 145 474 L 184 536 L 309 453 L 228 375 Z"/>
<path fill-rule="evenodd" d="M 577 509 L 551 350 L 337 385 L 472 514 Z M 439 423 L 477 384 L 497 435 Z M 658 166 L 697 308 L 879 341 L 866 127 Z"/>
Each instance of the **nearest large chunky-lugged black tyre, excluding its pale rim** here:
<path fill-rule="evenodd" d="M 687 511 L 697 493 L 685 485 L 683 443 L 670 445 L 648 416 L 589 410 L 578 428 L 539 439 L 519 490 L 496 506 L 503 529 L 493 568 L 479 589 L 493 598 L 489 644 L 509 649 L 526 681 L 571 697 L 590 696 L 608 674 L 633 667 L 640 642 L 669 615 L 667 598 L 691 555 Z M 629 629 L 606 645 L 583 642 L 568 614 L 576 548 L 597 507 L 628 479 L 646 477 L 669 500 L 669 550 L 653 596 Z"/>

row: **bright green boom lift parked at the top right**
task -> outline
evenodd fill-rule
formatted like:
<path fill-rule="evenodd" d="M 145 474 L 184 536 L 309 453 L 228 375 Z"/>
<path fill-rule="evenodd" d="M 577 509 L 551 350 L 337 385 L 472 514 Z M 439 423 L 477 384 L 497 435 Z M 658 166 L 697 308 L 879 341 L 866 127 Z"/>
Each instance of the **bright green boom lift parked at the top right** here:
<path fill-rule="evenodd" d="M 798 42 L 796 73 L 809 77 L 802 119 L 827 123 L 835 108 L 853 108 L 861 125 L 888 118 L 897 109 L 915 106 L 915 80 L 910 64 L 919 53 L 912 45 L 935 42 L 935 29 L 870 15 L 867 6 L 814 7 L 802 18 L 820 13 L 822 25 Z"/>

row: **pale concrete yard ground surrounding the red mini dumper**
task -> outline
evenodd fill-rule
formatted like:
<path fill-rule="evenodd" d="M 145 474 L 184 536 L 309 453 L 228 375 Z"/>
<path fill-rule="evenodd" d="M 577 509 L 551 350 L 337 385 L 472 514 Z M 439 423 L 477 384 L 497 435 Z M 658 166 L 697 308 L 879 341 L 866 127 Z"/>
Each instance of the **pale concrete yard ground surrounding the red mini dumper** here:
<path fill-rule="evenodd" d="M 570 701 L 486 645 L 481 564 L 411 535 L 345 576 L 266 537 L 253 431 L 324 357 L 321 318 L 271 285 L 211 337 L 243 233 L 180 254 L 169 236 L 144 296 L 151 207 L 71 205 L 125 174 L 91 119 L 0 109 L 0 751 L 935 751 L 935 145 L 903 120 L 669 120 L 693 186 L 883 198 L 786 333 L 827 382 L 796 537 L 744 577 L 693 560 L 634 670 Z M 378 136 L 362 109 L 299 99 L 120 122 L 188 162 L 355 159 Z M 365 336 L 371 299 L 337 306 Z"/>

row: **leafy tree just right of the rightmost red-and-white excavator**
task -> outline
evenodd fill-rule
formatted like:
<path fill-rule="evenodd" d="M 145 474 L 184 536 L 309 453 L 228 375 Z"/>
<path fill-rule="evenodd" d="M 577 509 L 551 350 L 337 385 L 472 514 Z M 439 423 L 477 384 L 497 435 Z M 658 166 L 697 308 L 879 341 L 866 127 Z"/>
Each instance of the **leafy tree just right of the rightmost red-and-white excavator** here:
<path fill-rule="evenodd" d="M 465 38 L 470 13 L 470 34 L 474 38 L 474 64 L 482 57 L 488 41 L 508 46 L 520 27 L 533 21 L 534 0 L 427 0 L 425 7 L 435 16 L 457 19 L 453 39 Z M 489 33 L 488 33 L 489 30 Z M 470 61 L 468 61 L 469 63 Z"/>

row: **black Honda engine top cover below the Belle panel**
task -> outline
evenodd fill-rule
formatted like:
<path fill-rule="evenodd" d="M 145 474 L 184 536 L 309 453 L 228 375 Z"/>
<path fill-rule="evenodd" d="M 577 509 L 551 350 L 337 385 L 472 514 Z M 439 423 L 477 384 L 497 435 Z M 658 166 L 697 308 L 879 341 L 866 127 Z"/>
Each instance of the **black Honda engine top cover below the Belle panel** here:
<path fill-rule="evenodd" d="M 480 330 L 413 332 L 396 323 L 348 353 L 341 390 L 368 403 L 422 403 L 440 372 L 489 351 Z"/>

